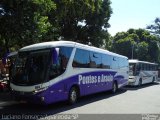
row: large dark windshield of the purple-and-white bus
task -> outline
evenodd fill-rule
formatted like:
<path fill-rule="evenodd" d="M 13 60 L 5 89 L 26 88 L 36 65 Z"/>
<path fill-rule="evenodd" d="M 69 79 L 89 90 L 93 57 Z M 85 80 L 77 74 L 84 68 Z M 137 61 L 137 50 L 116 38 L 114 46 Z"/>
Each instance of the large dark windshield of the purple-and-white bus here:
<path fill-rule="evenodd" d="M 50 50 L 20 52 L 12 72 L 12 82 L 18 85 L 34 85 L 44 82 Z"/>

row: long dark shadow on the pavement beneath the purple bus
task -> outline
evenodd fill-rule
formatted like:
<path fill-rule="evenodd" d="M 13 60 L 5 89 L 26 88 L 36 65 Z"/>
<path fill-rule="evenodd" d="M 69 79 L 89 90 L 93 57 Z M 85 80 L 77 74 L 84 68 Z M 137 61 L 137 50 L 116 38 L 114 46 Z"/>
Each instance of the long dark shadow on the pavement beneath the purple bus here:
<path fill-rule="evenodd" d="M 33 115 L 35 117 L 47 117 L 73 108 L 81 107 L 99 100 L 108 99 L 110 97 L 120 95 L 125 92 L 125 89 L 119 89 L 119 91 L 116 94 L 111 94 L 111 92 L 102 92 L 88 95 L 85 97 L 81 97 L 79 101 L 74 105 L 68 105 L 67 102 L 59 102 L 48 106 L 16 102 L 14 104 L 6 105 L 0 103 L 0 115 L 3 115 L 4 117 L 5 115 L 20 115 L 21 117 L 24 117 L 24 115 Z M 1 117 L 2 116 L 0 116 L 0 118 Z"/>

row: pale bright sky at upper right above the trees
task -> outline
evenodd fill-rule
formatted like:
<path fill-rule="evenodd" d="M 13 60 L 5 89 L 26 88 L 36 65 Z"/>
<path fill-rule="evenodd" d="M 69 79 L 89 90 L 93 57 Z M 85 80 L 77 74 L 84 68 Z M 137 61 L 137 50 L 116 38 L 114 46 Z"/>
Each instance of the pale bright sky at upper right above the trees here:
<path fill-rule="evenodd" d="M 109 33 L 126 32 L 130 28 L 146 28 L 160 17 L 160 0 L 110 0 L 112 15 Z"/>

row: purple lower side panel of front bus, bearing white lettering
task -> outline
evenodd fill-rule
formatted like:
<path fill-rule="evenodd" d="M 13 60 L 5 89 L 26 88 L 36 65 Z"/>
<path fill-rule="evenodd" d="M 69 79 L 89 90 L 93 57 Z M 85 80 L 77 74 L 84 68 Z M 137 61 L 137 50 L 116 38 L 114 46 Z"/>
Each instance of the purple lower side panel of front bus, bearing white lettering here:
<path fill-rule="evenodd" d="M 50 104 L 67 100 L 69 90 L 74 85 L 79 87 L 80 96 L 111 90 L 113 80 L 116 80 L 118 85 L 123 84 L 127 81 L 124 79 L 124 76 L 115 75 L 116 72 L 114 71 L 100 71 L 77 74 L 63 79 L 54 85 L 51 85 L 46 91 L 42 93 L 36 94 L 35 96 L 32 95 L 30 97 L 33 97 L 32 100 L 37 100 L 38 97 L 44 97 L 44 103 Z M 32 102 L 36 103 L 36 101 Z"/>

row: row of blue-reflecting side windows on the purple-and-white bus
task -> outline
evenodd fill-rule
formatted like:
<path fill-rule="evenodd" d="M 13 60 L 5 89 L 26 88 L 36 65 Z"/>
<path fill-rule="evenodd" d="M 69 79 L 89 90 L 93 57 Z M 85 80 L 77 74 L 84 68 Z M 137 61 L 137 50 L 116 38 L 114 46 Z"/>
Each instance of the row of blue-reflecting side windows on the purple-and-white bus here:
<path fill-rule="evenodd" d="M 82 49 L 76 50 L 72 63 L 73 67 L 79 68 L 118 69 L 119 65 L 128 67 L 128 60 Z"/>

